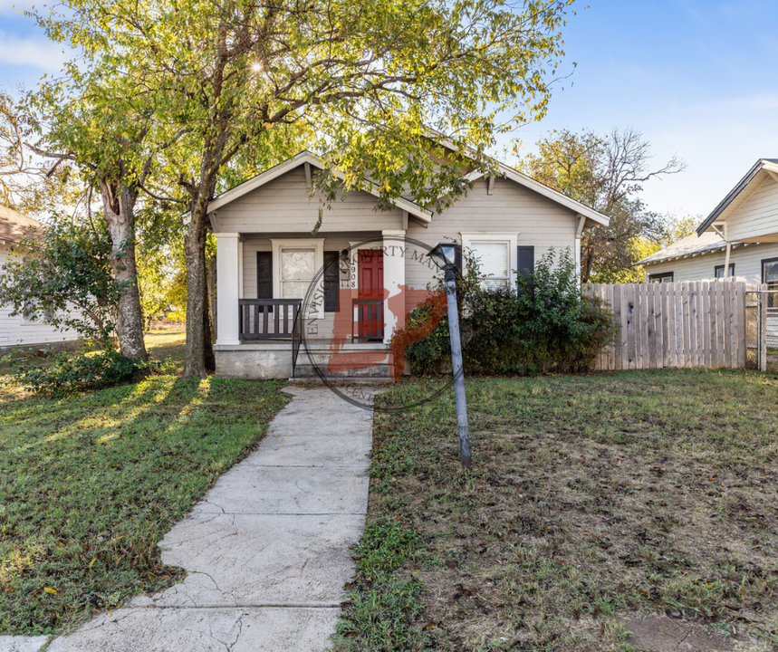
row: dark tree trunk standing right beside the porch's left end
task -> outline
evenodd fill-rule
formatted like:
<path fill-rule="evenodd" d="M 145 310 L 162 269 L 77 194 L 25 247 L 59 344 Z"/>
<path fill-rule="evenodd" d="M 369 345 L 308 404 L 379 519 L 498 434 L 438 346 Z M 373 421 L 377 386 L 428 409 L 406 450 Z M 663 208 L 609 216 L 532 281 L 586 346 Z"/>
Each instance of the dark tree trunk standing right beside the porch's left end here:
<path fill-rule="evenodd" d="M 184 240 L 187 254 L 187 357 L 184 378 L 206 378 L 213 369 L 214 350 L 208 322 L 206 270 L 207 197 L 192 204 L 191 222 Z"/>

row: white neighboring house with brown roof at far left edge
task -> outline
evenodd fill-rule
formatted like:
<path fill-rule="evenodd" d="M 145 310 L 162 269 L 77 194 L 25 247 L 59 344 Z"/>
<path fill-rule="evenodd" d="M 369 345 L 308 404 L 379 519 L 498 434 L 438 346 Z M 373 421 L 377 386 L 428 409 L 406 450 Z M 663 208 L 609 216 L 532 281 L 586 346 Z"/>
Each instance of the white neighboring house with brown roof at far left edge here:
<path fill-rule="evenodd" d="M 30 235 L 32 229 L 40 229 L 42 226 L 32 217 L 0 206 L 0 273 L 5 273 L 6 264 L 13 257 L 11 247 Z M 11 312 L 11 306 L 0 303 L 0 351 L 19 346 L 61 346 L 63 342 L 79 339 L 75 331 L 58 331 L 24 315 L 12 315 Z"/>

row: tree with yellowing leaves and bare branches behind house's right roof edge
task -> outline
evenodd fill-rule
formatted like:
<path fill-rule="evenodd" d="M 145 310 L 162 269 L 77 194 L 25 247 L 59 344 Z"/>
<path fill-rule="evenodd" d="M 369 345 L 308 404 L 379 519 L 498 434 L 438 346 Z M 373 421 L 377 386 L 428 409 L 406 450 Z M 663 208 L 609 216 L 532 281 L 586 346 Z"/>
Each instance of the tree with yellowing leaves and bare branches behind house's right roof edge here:
<path fill-rule="evenodd" d="M 684 169 L 676 157 L 651 166 L 651 148 L 636 129 L 613 129 L 600 136 L 589 130 L 552 132 L 523 158 L 521 169 L 565 195 L 610 217 L 610 225 L 587 232 L 581 242 L 581 281 L 610 283 L 638 259 L 636 239 L 658 241 L 664 220 L 640 200 L 643 184 Z"/>

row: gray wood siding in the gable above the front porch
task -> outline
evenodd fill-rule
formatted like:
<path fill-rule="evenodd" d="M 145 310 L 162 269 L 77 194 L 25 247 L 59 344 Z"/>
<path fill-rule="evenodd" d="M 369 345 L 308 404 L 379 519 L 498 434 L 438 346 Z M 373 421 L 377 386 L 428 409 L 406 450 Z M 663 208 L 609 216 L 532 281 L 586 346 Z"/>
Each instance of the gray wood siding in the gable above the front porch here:
<path fill-rule="evenodd" d="M 402 211 L 376 211 L 376 197 L 352 192 L 336 199 L 330 208 L 318 197 L 311 198 L 305 187 L 303 168 L 295 168 L 263 187 L 216 211 L 218 231 L 222 233 L 260 234 L 277 231 L 310 234 L 323 206 L 322 235 L 335 231 L 376 231 L 402 227 Z"/>

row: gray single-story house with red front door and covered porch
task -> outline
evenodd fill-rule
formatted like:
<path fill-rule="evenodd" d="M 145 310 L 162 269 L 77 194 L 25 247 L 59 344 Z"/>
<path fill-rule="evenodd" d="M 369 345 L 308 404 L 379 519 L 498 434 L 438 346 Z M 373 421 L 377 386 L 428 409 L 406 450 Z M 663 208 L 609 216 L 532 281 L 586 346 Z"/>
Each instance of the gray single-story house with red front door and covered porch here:
<path fill-rule="evenodd" d="M 387 376 L 391 334 L 437 273 L 429 248 L 456 240 L 480 259 L 484 283 L 505 284 L 551 247 L 569 248 L 580 265 L 581 233 L 608 224 L 504 165 L 498 177 L 471 174 L 466 197 L 439 215 L 402 197 L 377 210 L 375 189 L 326 206 L 312 197 L 322 168 L 303 152 L 208 206 L 217 252 L 217 375 L 301 377 L 315 366 L 333 375 Z M 306 294 L 312 301 L 295 330 L 293 315 Z"/>

